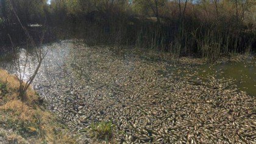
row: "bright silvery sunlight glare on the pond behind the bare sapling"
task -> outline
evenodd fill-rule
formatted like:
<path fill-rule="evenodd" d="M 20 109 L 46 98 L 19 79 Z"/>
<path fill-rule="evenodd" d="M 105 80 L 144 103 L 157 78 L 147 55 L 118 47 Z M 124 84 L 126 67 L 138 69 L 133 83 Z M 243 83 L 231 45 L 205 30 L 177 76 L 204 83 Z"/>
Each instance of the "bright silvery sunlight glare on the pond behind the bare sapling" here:
<path fill-rule="evenodd" d="M 40 69 L 43 71 L 59 69 L 59 66 L 65 63 L 65 57 L 70 49 L 69 45 L 66 44 L 65 47 L 60 44 L 44 45 L 42 53 L 47 52 L 47 55 L 41 63 Z M 29 80 L 38 65 L 35 50 L 21 48 L 17 50 L 17 57 L 13 57 L 13 55 L 15 54 L 7 53 L 0 56 L 0 68 L 7 69 L 11 74 L 18 75 L 24 81 Z M 44 77 L 44 75 L 38 74 L 36 77 Z"/>

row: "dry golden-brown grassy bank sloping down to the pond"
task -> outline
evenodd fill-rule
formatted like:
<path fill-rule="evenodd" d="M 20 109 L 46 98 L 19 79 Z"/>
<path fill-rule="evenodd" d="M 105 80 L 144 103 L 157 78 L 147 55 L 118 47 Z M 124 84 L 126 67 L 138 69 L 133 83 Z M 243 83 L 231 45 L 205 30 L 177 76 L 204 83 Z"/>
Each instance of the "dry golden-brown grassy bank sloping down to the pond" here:
<path fill-rule="evenodd" d="M 0 69 L 0 143 L 78 143 L 32 88 L 21 101 L 18 87 L 18 79 Z"/>

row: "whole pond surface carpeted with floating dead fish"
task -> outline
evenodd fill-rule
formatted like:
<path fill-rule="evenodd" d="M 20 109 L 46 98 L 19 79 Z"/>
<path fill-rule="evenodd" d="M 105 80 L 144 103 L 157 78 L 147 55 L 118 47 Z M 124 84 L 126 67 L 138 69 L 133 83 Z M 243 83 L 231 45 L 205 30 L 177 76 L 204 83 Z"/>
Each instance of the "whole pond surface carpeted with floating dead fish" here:
<path fill-rule="evenodd" d="M 111 120 L 118 142 L 256 142 L 255 58 L 174 65 L 75 42 L 44 45 L 48 54 L 33 83 L 70 129 Z M 32 50 L 28 55 L 26 69 L 21 67 L 24 80 L 37 64 Z M 26 50 L 17 57 L 26 63 Z M 4 54 L 0 61 L 0 67 L 18 74 L 15 57 Z"/>

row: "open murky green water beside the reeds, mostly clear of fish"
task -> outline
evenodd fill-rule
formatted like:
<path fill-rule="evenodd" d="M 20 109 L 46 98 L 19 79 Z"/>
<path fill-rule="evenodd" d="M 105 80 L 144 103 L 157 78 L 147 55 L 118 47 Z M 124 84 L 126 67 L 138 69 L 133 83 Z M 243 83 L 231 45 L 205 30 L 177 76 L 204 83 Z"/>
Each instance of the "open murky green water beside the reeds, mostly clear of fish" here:
<path fill-rule="evenodd" d="M 172 73 L 180 77 L 191 77 L 192 80 L 197 77 L 207 79 L 209 76 L 232 80 L 239 91 L 247 92 L 253 96 L 256 95 L 255 57 L 248 57 L 240 62 L 167 66 L 167 69 L 164 72 L 166 75 Z"/>

